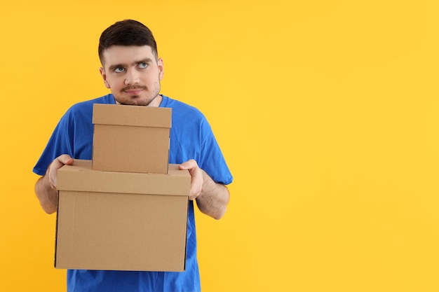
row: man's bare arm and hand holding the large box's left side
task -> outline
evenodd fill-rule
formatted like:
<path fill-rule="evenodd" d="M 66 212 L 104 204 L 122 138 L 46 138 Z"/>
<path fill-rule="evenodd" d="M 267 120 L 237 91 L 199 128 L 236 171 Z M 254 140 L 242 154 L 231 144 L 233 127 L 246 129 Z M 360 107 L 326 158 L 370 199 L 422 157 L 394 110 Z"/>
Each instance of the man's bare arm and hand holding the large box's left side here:
<path fill-rule="evenodd" d="M 35 184 L 35 193 L 41 207 L 47 214 L 52 214 L 58 209 L 58 190 L 56 189 L 56 174 L 63 165 L 72 165 L 73 159 L 63 154 L 50 163 L 46 174 L 41 176 Z"/>

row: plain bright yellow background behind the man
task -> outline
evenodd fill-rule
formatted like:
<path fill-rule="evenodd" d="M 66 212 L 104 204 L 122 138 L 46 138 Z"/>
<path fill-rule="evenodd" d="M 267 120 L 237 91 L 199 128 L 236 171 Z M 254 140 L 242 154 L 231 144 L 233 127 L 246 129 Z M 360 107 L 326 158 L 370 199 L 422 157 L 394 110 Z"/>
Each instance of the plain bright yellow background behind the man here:
<path fill-rule="evenodd" d="M 97 41 L 154 32 L 162 93 L 207 116 L 234 174 L 197 212 L 202 288 L 439 291 L 439 2 L 2 1 L 0 291 L 65 291 L 32 167 L 107 94 Z"/>

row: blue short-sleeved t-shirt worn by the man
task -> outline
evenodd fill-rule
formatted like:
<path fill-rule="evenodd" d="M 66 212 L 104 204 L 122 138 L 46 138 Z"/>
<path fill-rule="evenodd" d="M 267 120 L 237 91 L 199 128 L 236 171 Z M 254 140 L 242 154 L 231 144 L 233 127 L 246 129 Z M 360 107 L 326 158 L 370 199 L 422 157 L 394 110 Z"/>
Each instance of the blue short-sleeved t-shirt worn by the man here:
<path fill-rule="evenodd" d="M 115 104 L 115 100 L 110 94 L 72 106 L 55 127 L 34 167 L 36 174 L 44 175 L 50 163 L 61 154 L 69 154 L 76 159 L 92 158 L 93 104 Z M 233 177 L 203 114 L 192 106 L 164 95 L 160 107 L 173 109 L 169 163 L 180 164 L 194 159 L 217 183 L 231 183 Z M 69 292 L 195 292 L 200 291 L 200 288 L 193 201 L 189 201 L 187 259 L 184 272 L 67 271 Z"/>

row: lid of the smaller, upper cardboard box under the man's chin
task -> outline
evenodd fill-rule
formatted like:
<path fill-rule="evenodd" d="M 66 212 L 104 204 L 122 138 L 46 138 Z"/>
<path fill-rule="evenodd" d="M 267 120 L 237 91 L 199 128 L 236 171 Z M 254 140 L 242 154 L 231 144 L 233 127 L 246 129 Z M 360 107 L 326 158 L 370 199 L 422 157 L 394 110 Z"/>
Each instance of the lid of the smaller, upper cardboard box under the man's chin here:
<path fill-rule="evenodd" d="M 172 109 L 154 106 L 93 104 L 93 124 L 171 127 Z"/>

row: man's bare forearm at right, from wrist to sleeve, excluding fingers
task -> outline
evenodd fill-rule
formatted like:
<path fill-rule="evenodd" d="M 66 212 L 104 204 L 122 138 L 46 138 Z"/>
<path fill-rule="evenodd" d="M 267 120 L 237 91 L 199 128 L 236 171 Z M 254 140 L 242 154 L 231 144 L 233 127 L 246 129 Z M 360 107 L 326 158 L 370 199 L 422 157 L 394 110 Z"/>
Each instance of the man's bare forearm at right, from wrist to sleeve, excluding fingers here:
<path fill-rule="evenodd" d="M 227 210 L 230 194 L 226 186 L 215 183 L 208 174 L 203 171 L 203 188 L 196 197 L 198 209 L 204 214 L 215 219 L 220 219 Z"/>

